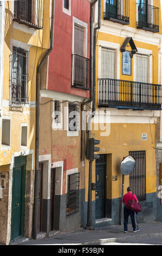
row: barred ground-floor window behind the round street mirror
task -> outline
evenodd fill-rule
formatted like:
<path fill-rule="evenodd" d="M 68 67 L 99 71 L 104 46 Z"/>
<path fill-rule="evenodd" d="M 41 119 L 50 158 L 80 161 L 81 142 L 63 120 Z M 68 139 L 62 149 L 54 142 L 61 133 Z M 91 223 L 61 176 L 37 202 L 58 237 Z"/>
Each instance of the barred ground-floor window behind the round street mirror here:
<path fill-rule="evenodd" d="M 146 200 L 146 151 L 129 151 L 135 158 L 135 168 L 129 174 L 129 185 L 139 201 Z"/>

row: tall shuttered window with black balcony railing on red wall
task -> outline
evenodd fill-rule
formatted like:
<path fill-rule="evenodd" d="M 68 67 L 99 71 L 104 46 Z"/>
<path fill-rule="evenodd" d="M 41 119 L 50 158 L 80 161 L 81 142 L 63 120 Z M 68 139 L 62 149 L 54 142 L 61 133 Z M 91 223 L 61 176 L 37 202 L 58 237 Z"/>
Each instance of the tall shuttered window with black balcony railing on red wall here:
<path fill-rule="evenodd" d="M 72 86 L 90 89 L 90 60 L 85 58 L 85 28 L 74 25 L 74 54 L 72 54 Z"/>

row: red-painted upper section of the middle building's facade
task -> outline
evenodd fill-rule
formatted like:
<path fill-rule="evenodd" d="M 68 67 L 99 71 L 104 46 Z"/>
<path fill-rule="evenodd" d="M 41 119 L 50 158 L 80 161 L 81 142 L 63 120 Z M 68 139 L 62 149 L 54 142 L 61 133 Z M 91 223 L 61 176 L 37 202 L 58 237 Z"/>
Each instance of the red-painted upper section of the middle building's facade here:
<path fill-rule="evenodd" d="M 63 5 L 60 4 L 63 2 Z M 54 48 L 49 56 L 48 89 L 89 97 L 90 2 L 88 0 L 55 1 Z M 68 2 L 68 8 L 64 7 Z M 76 58 L 78 54 L 80 58 Z M 73 57 L 74 56 L 74 57 Z M 74 62 L 78 67 L 78 87 L 73 86 Z M 87 66 L 86 66 L 87 65 Z M 86 69 L 87 68 L 87 69 Z M 86 69 L 86 70 L 85 70 Z M 83 74 L 79 74 L 83 72 Z M 83 78 L 83 81 L 82 81 Z M 85 81 L 87 78 L 87 81 Z"/>

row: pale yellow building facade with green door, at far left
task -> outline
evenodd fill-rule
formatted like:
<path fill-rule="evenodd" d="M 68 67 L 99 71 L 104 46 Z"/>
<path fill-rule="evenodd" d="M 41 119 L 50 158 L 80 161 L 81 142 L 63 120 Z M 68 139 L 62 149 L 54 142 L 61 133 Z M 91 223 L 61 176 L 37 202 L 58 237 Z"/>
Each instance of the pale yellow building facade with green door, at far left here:
<path fill-rule="evenodd" d="M 9 244 L 32 236 L 36 70 L 49 48 L 51 1 L 1 1 L 0 8 L 0 243 Z"/>

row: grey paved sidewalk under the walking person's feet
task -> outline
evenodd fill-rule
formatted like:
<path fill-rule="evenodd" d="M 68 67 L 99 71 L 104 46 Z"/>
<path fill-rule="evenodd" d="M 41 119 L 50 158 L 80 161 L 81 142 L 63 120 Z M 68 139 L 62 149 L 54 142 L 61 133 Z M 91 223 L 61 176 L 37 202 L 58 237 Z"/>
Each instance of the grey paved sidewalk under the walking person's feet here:
<path fill-rule="evenodd" d="M 20 240 L 11 245 L 103 245 L 109 242 L 129 242 L 149 237 L 162 237 L 162 222 L 139 223 L 140 231 L 133 233 L 132 225 L 128 225 L 128 233 L 123 233 L 123 225 L 97 227 L 89 231 L 78 229 L 74 232 L 59 232 L 38 240 Z"/>

